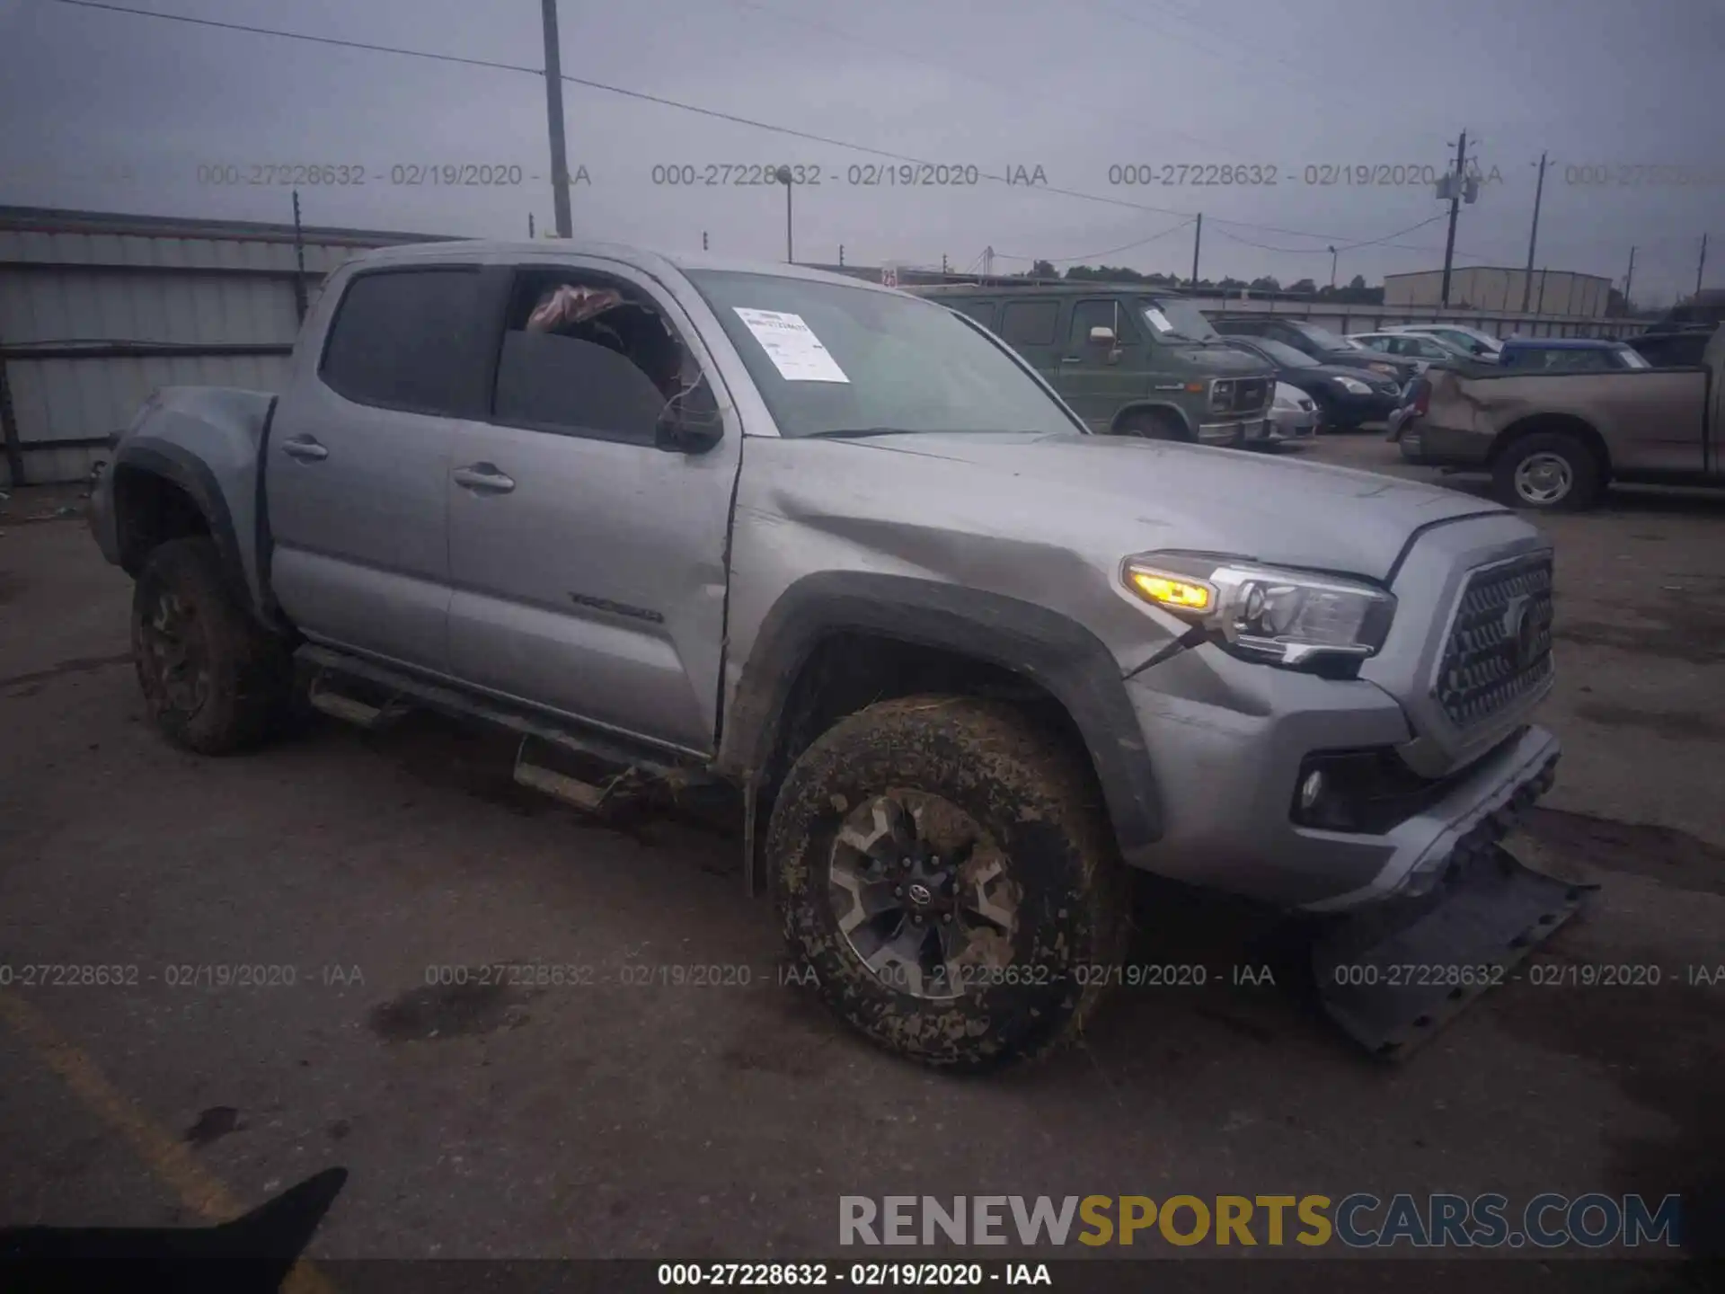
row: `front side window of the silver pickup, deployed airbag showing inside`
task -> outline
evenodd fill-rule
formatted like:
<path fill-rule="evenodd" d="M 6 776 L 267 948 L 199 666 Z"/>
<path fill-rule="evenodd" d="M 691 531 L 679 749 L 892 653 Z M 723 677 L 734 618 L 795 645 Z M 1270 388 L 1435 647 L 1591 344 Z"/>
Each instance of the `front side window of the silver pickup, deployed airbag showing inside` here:
<path fill-rule="evenodd" d="M 659 414 L 699 381 L 676 330 L 633 286 L 516 276 L 497 357 L 499 423 L 652 445 Z"/>

